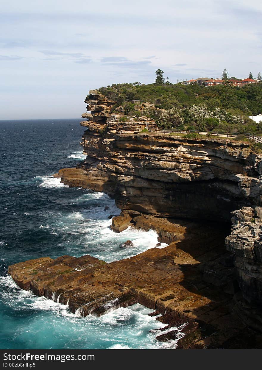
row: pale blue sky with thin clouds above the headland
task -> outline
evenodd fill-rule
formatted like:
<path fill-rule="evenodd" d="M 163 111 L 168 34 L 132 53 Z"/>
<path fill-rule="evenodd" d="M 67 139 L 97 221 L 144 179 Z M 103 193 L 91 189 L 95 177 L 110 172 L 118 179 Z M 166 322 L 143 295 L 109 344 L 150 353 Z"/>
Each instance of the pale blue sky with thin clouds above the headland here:
<path fill-rule="evenodd" d="M 80 118 L 90 89 L 262 73 L 258 0 L 12 0 L 0 13 L 0 120 Z"/>

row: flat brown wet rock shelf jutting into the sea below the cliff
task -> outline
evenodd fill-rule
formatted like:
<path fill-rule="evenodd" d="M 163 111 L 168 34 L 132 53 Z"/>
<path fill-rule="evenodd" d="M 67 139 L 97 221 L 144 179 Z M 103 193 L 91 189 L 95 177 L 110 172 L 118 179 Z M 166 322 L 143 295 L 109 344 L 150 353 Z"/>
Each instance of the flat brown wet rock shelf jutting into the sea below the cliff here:
<path fill-rule="evenodd" d="M 231 312 L 232 295 L 225 293 L 225 284 L 214 286 L 202 279 L 206 266 L 228 259 L 228 231 L 212 223 L 187 227 L 176 243 L 130 259 L 106 263 L 88 255 L 47 257 L 10 266 L 9 273 L 22 289 L 67 304 L 78 315 L 101 316 L 136 302 L 157 310 L 163 315 L 158 320 L 174 327 L 174 333 L 158 339 L 175 339 L 183 332 L 178 348 L 224 348 L 226 343 L 241 348 L 237 339 L 243 332 L 259 347 L 259 336 Z M 175 329 L 186 322 L 181 332 Z"/>

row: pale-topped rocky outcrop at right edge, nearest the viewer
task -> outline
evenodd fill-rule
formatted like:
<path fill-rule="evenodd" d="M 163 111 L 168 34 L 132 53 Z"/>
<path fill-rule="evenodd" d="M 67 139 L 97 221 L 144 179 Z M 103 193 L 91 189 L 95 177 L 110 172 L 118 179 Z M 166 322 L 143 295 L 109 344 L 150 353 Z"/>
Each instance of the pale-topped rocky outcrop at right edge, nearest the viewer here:
<path fill-rule="evenodd" d="M 235 275 L 241 294 L 234 298 L 234 309 L 249 325 L 262 327 L 262 208 L 243 207 L 232 212 L 231 235 L 226 249 L 234 254 Z"/>

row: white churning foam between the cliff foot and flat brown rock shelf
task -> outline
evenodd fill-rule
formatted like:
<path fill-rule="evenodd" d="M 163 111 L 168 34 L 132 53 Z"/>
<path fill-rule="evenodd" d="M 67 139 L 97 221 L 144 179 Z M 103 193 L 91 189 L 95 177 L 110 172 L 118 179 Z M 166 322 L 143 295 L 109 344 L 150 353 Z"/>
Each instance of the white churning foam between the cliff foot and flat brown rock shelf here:
<path fill-rule="evenodd" d="M 154 248 L 158 243 L 158 235 L 152 230 L 143 231 L 129 227 L 121 233 L 112 231 L 111 217 L 119 215 L 120 209 L 116 207 L 114 200 L 103 192 L 87 191 L 68 204 L 79 204 L 79 208 L 73 212 L 48 212 L 46 225 L 41 225 L 41 228 L 48 229 L 54 235 L 65 236 L 68 254 L 91 254 L 106 262 L 112 262 L 135 256 Z M 127 240 L 132 240 L 134 246 L 121 248 Z M 167 244 L 162 243 L 158 248 L 165 246 Z"/>

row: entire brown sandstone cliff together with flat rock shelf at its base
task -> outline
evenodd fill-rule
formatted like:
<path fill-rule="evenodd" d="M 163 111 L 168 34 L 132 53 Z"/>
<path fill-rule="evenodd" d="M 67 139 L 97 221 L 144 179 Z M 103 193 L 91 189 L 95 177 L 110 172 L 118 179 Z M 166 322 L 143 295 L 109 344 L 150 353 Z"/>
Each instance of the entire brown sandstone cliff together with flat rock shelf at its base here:
<path fill-rule="evenodd" d="M 96 90 L 85 102 L 87 158 L 57 176 L 113 197 L 121 209 L 114 231 L 155 229 L 170 244 L 110 264 L 90 256 L 28 261 L 10 266 L 14 280 L 59 295 L 73 312 L 85 306 L 83 314 L 99 316 L 108 304 L 140 302 L 170 327 L 188 321 L 194 330 L 181 348 L 234 348 L 249 333 L 239 316 L 262 331 L 261 156 L 245 142 L 162 134 L 154 120 L 126 117 L 122 107 L 112 114 L 115 102 Z"/>

